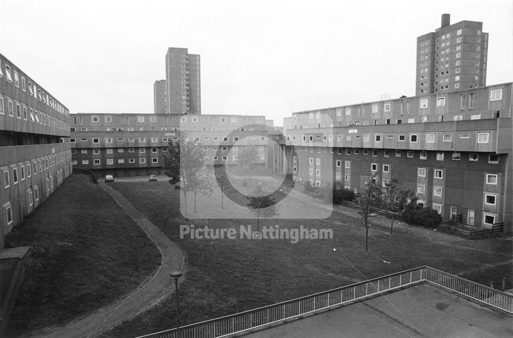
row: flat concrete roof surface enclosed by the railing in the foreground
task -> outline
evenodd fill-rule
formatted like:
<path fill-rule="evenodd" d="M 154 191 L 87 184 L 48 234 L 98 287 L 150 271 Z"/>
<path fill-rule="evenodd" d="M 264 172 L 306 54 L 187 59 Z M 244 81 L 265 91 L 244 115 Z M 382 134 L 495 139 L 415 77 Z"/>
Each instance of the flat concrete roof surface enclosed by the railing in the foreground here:
<path fill-rule="evenodd" d="M 513 316 L 422 283 L 248 337 L 506 337 Z"/>

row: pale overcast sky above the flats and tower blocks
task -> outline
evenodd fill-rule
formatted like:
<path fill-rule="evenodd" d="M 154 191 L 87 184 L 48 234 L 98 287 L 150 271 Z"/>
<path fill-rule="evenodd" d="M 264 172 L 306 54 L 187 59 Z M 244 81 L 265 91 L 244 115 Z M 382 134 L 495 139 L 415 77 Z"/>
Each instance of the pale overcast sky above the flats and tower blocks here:
<path fill-rule="evenodd" d="M 422 6 L 420 4 L 423 4 Z M 513 81 L 513 0 L 0 0 L 0 53 L 71 113 L 153 113 L 168 47 L 201 55 L 204 114 L 415 95 L 417 36 L 483 22 L 488 85 Z"/>

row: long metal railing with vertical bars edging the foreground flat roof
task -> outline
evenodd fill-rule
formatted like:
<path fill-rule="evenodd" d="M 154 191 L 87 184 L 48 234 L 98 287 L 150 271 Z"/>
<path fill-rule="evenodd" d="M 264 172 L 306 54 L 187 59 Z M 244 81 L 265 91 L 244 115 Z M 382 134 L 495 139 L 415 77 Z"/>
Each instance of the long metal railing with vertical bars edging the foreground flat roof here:
<path fill-rule="evenodd" d="M 513 313 L 513 295 L 427 266 L 393 273 L 376 279 L 324 291 L 287 302 L 264 306 L 201 323 L 144 335 L 143 337 L 223 337 L 246 330 L 293 320 L 322 310 L 337 308 L 399 290 L 428 283 L 457 292 L 473 301 Z"/>

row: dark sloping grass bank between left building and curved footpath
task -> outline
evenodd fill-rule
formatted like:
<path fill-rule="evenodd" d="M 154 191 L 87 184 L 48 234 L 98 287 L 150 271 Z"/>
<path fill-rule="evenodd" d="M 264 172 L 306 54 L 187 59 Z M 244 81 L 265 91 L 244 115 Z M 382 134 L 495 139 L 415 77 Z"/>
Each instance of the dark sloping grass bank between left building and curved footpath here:
<path fill-rule="evenodd" d="M 139 226 L 82 174 L 67 178 L 7 243 L 34 246 L 8 336 L 94 312 L 130 293 L 161 262 Z"/>

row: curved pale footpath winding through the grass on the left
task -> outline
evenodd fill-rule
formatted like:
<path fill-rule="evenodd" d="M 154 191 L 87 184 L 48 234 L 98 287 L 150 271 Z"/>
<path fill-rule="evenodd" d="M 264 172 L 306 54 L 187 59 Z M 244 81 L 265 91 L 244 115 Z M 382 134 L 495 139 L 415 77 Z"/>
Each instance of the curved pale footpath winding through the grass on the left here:
<path fill-rule="evenodd" d="M 102 308 L 84 319 L 77 320 L 62 328 L 45 329 L 36 334 L 39 337 L 94 337 L 109 328 L 144 312 L 159 303 L 165 296 L 174 292 L 171 288 L 171 271 L 183 271 L 184 255 L 169 238 L 141 212 L 126 200 L 123 195 L 103 182 L 98 183 L 107 191 L 125 212 L 144 230 L 162 254 L 162 263 L 156 272 L 147 277 L 137 289 L 125 299 Z M 183 280 L 183 277 L 182 277 Z M 52 330 L 53 331 L 50 331 Z"/>

